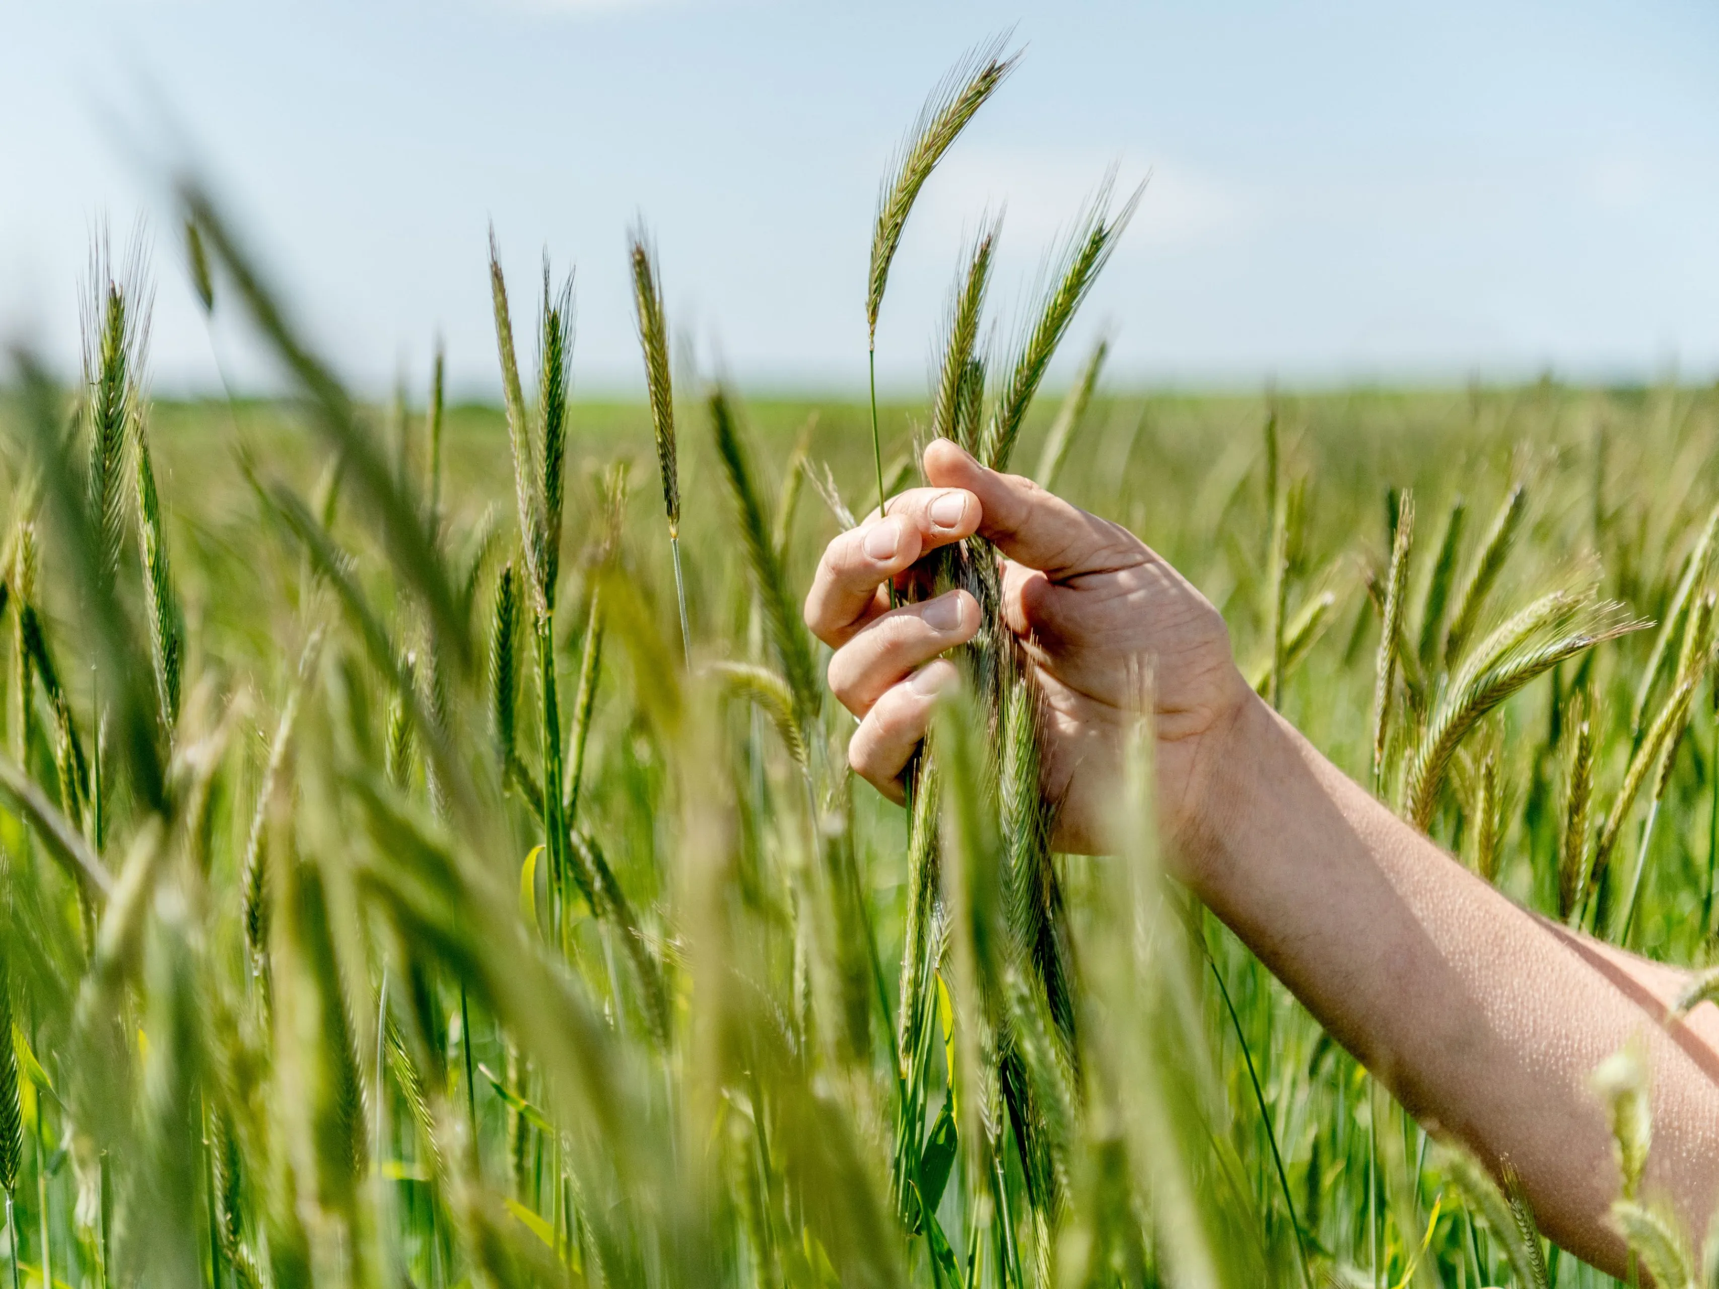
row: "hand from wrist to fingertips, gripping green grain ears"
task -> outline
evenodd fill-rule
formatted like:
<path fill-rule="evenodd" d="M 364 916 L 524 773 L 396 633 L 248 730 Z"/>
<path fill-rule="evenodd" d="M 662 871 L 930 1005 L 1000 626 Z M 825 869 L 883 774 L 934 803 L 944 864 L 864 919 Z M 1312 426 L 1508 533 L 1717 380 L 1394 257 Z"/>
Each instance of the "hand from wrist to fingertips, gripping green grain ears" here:
<path fill-rule="evenodd" d="M 806 595 L 806 626 L 835 650 L 830 689 L 860 718 L 847 746 L 853 768 L 902 799 L 901 775 L 935 696 L 957 677 L 939 655 L 973 638 L 980 608 L 966 591 L 890 608 L 885 583 L 978 533 L 1004 555 L 1004 620 L 1045 699 L 1042 789 L 1059 803 L 1055 849 L 1116 849 L 1114 789 L 1143 665 L 1159 815 L 1171 839 L 1191 842 L 1219 749 L 1253 701 L 1222 615 L 1121 524 L 985 469 L 949 440 L 925 449 L 925 476 L 932 486 L 901 493 L 885 517 L 837 536 Z"/>

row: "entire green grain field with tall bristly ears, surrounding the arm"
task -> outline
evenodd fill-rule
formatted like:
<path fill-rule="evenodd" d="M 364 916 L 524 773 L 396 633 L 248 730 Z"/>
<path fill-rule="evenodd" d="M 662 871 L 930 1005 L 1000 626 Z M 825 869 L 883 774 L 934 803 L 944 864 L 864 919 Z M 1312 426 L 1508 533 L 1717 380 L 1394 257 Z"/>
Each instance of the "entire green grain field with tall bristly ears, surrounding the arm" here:
<path fill-rule="evenodd" d="M 873 332 L 997 53 L 885 182 Z M 569 297 L 492 266 L 505 406 L 370 406 L 180 199 L 160 272 L 292 397 L 151 400 L 144 275 L 101 258 L 83 378 L 17 352 L 0 397 L 0 1280 L 1611 1284 L 1160 875 L 1143 756 L 1133 849 L 1050 852 L 1006 639 L 902 811 L 799 602 L 957 437 L 1181 567 L 1459 863 L 1705 966 L 1719 392 L 1141 394 L 1102 347 L 1052 390 L 1131 211 L 1100 192 L 1018 342 L 990 234 L 951 256 L 923 400 L 670 373 L 639 234 L 636 316 L 584 325 L 638 332 L 648 404 L 574 400 Z M 1619 1208 L 1640 1265 L 1705 1284 L 1659 1215 Z"/>

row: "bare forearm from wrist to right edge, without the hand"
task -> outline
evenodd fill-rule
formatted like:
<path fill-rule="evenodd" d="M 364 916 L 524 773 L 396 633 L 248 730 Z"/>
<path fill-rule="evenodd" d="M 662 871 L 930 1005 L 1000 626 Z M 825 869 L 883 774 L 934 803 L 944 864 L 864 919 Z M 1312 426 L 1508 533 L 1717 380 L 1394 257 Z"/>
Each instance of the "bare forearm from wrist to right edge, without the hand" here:
<path fill-rule="evenodd" d="M 1716 1009 L 1664 1026 L 1681 973 L 1518 907 L 1410 828 L 1263 705 L 1210 770 L 1188 880 L 1423 1122 L 1508 1155 L 1542 1227 L 1619 1268 L 1618 1170 L 1588 1074 L 1649 1042 L 1649 1188 L 1705 1232 L 1719 1188 Z"/>

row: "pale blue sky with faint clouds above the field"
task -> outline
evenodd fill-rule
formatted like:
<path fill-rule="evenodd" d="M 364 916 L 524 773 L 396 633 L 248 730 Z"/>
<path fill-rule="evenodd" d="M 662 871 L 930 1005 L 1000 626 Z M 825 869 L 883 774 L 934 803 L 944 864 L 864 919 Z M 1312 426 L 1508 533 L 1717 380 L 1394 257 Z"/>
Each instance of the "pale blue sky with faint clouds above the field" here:
<path fill-rule="evenodd" d="M 885 385 L 923 387 L 987 208 L 1007 327 L 1112 165 L 1152 179 L 1071 349 L 1107 327 L 1116 380 L 1719 371 L 1719 10 L 1695 0 L 0 0 L 0 330 L 70 364 L 89 230 L 141 213 L 156 387 L 215 385 L 213 352 L 266 380 L 184 284 L 170 117 L 366 388 L 418 383 L 440 333 L 493 390 L 493 220 L 516 299 L 545 247 L 578 265 L 576 382 L 636 394 L 638 213 L 703 366 L 858 388 L 878 175 L 1011 26 L 1019 70 L 908 229 Z"/>

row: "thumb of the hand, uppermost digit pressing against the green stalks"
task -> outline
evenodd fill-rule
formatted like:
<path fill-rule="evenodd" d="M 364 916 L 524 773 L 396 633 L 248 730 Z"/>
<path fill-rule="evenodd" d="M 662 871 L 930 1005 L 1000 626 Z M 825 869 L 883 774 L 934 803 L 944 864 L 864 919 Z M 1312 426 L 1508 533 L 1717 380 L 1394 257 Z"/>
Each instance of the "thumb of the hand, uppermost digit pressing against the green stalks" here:
<path fill-rule="evenodd" d="M 1052 581 L 1138 564 L 1145 553 L 1126 529 L 1069 505 L 1031 480 L 982 466 L 947 438 L 925 449 L 925 478 L 933 486 L 964 488 L 978 497 L 980 536 Z"/>

